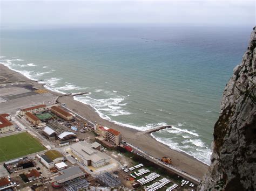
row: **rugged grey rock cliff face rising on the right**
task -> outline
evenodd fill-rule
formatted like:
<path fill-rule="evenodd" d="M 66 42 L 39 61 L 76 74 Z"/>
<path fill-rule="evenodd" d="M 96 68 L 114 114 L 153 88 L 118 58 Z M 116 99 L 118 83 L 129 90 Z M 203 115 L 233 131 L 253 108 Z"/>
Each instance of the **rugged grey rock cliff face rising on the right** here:
<path fill-rule="evenodd" d="M 198 190 L 256 190 L 256 28 L 226 84 L 213 153 Z"/>

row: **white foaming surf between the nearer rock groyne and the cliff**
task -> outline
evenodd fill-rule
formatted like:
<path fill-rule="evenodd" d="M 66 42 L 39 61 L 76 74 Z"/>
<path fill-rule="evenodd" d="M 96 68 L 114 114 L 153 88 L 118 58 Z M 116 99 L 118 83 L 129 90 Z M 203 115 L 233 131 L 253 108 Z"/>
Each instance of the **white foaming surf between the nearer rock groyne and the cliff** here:
<path fill-rule="evenodd" d="M 180 145 L 178 142 L 173 141 L 172 138 L 159 138 L 151 133 L 151 136 L 156 139 L 158 142 L 163 143 L 164 145 L 169 146 L 171 149 L 184 152 L 192 157 L 196 158 L 197 160 L 203 162 L 204 164 L 209 165 L 211 163 L 211 150 L 210 148 L 198 148 L 195 146 L 190 146 L 187 144 Z"/>

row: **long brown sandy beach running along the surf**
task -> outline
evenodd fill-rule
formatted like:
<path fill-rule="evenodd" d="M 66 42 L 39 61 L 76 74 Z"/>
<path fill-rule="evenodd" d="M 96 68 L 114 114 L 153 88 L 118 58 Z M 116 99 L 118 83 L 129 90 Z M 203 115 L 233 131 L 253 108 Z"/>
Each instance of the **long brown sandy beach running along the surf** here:
<path fill-rule="evenodd" d="M 12 83 L 14 82 L 30 83 L 36 88 L 48 90 L 49 93 L 53 95 L 56 95 L 56 96 L 63 95 L 45 88 L 44 87 L 45 84 L 38 83 L 38 81 L 30 80 L 28 79 L 28 77 L 24 76 L 23 74 L 15 70 L 12 70 L 9 67 L 4 66 L 3 64 L 0 65 L 0 71 L 3 71 L 3 73 L 5 73 L 6 75 L 11 76 L 11 78 L 13 78 Z M 11 83 L 8 81 L 3 83 Z M 59 97 L 58 102 L 65 103 L 66 107 L 68 107 L 72 111 L 77 112 L 77 114 L 84 116 L 85 118 L 89 119 L 92 122 L 97 122 L 101 125 L 120 131 L 123 135 L 124 140 L 127 140 L 127 142 L 129 142 L 130 144 L 139 147 L 141 150 L 145 151 L 146 153 L 150 153 L 153 157 L 156 157 L 159 159 L 164 156 L 170 157 L 172 159 L 174 167 L 177 167 L 182 171 L 195 176 L 196 178 L 199 178 L 199 179 L 203 178 L 203 175 L 207 172 L 208 165 L 197 160 L 193 156 L 188 155 L 185 152 L 172 150 L 172 148 L 170 148 L 169 146 L 158 142 L 150 134 L 135 136 L 134 133 L 140 132 L 140 131 L 126 127 L 126 126 L 121 126 L 101 118 L 97 114 L 94 108 L 92 108 L 90 105 L 74 100 L 73 96 Z"/>

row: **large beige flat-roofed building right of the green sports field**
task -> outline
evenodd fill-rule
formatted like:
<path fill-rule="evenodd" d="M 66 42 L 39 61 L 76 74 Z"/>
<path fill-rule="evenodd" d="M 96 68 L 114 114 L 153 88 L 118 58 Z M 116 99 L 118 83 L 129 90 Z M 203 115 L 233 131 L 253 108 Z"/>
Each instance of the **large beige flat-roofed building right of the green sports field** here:
<path fill-rule="evenodd" d="M 86 142 L 78 142 L 71 145 L 71 151 L 82 159 L 86 166 L 97 168 L 110 162 L 109 156 L 96 150 L 93 148 L 93 145 L 87 144 Z"/>

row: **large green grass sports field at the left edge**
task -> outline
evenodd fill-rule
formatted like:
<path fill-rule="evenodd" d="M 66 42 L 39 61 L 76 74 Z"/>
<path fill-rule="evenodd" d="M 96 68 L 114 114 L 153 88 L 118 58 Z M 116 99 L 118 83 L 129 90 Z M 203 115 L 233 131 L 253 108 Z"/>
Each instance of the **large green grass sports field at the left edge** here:
<path fill-rule="evenodd" d="M 43 150 L 46 148 L 27 132 L 0 138 L 0 162 Z"/>

